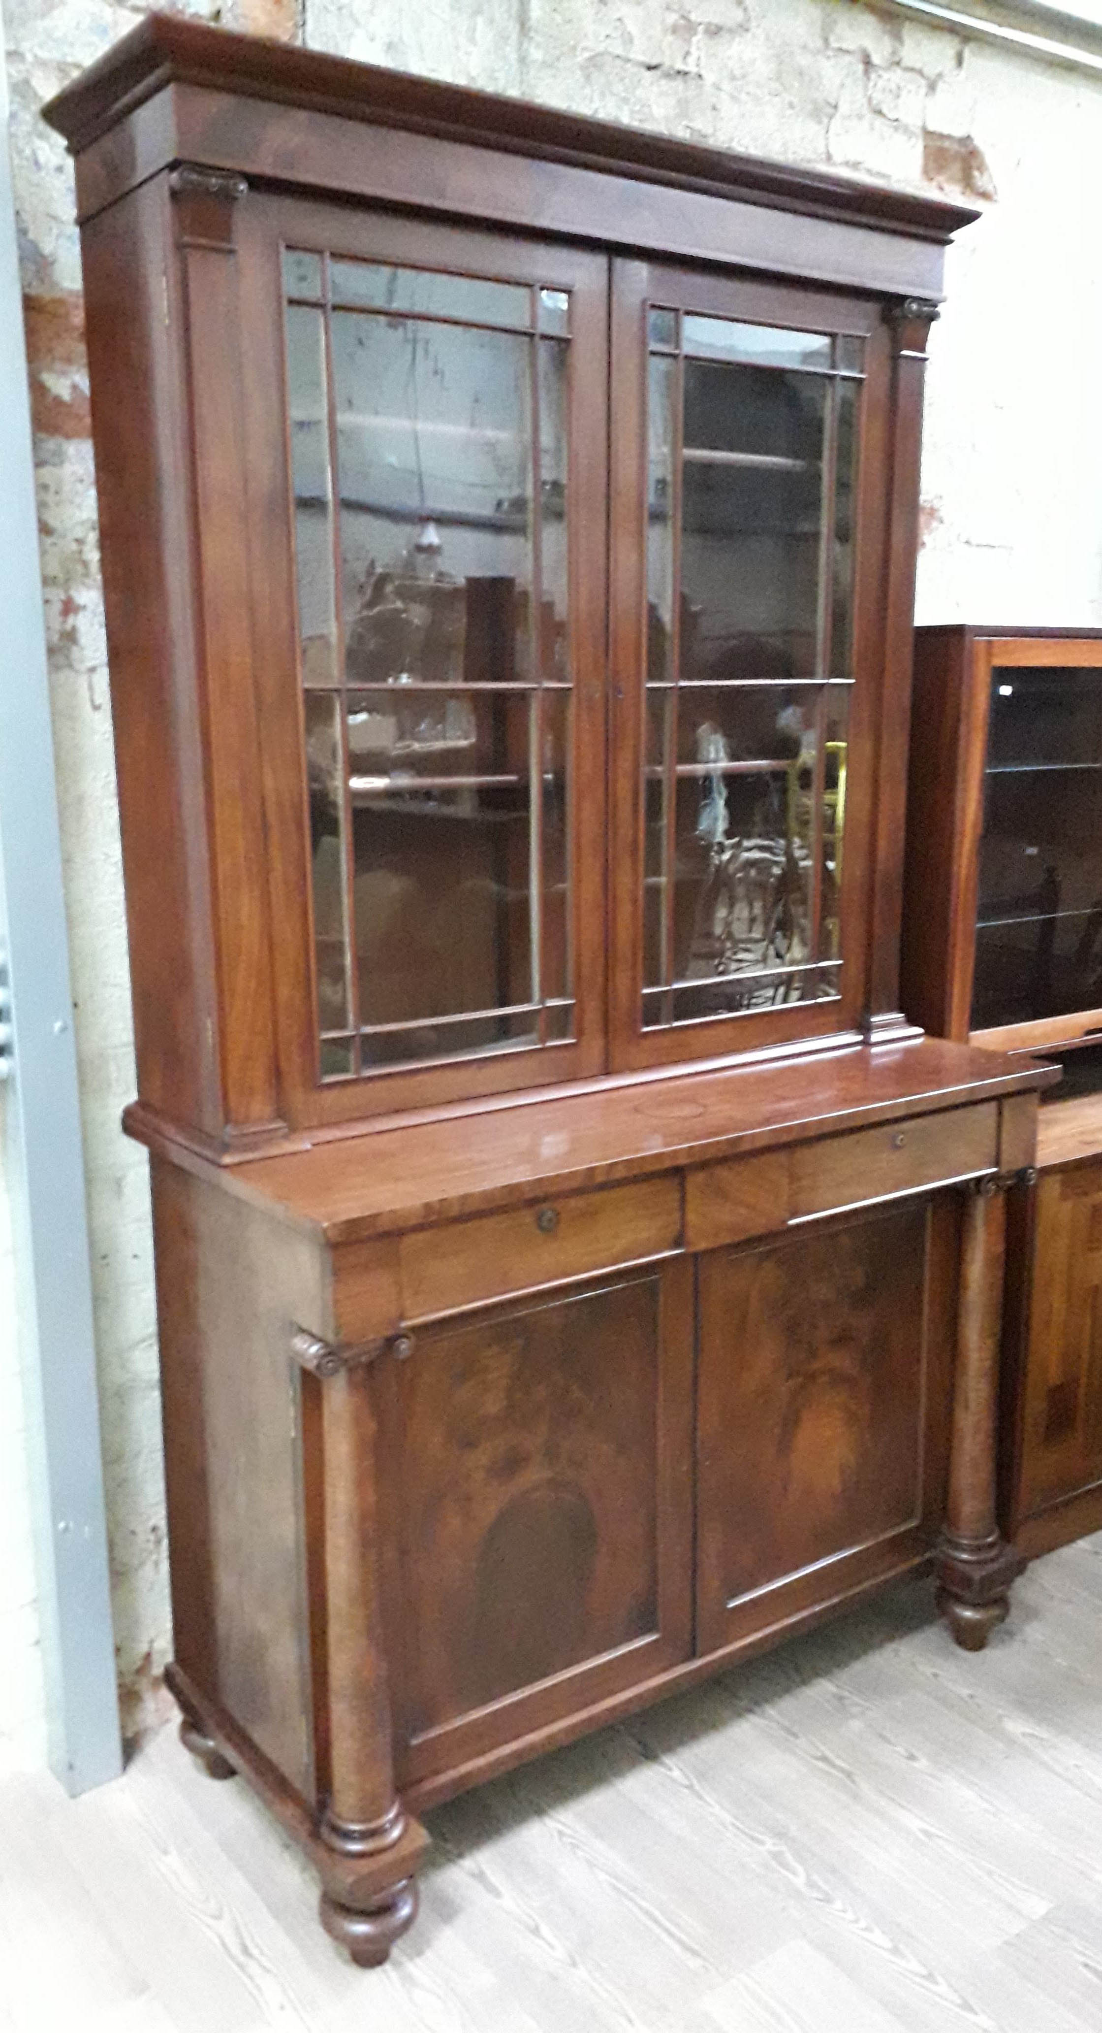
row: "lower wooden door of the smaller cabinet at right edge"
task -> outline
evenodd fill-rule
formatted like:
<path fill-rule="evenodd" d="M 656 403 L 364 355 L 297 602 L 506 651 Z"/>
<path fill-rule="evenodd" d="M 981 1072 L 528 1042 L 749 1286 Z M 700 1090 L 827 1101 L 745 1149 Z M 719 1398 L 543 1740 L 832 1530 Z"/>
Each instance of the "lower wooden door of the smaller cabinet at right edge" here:
<path fill-rule="evenodd" d="M 1043 1173 L 1033 1230 L 1021 1494 L 1029 1517 L 1102 1480 L 1102 1163 Z"/>

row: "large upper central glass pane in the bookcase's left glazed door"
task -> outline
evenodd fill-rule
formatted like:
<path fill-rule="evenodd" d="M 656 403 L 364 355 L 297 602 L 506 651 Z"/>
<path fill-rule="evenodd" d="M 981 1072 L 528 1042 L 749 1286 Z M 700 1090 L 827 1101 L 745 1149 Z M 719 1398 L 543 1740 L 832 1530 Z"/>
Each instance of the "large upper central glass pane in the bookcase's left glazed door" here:
<path fill-rule="evenodd" d="M 529 340 L 333 313 L 348 677 L 531 675 Z"/>

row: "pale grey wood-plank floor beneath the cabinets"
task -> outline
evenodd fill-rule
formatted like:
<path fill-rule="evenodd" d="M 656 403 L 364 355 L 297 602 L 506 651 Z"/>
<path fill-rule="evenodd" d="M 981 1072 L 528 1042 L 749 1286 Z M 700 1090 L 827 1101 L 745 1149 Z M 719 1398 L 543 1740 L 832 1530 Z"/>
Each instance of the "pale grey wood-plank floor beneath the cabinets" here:
<path fill-rule="evenodd" d="M 163 1730 L 0 1783 L 0 2033 L 1100 2033 L 1102 1533 L 986 1653 L 927 1584 L 451 1801 L 380 1972 Z"/>

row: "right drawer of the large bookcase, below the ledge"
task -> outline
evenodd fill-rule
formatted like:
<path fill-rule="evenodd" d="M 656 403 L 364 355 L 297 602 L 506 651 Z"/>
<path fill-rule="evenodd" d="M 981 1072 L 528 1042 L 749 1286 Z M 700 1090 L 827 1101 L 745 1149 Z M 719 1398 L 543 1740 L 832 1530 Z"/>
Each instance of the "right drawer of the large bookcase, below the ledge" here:
<path fill-rule="evenodd" d="M 998 1102 L 850 1130 L 791 1153 L 791 1218 L 950 1185 L 998 1163 Z"/>

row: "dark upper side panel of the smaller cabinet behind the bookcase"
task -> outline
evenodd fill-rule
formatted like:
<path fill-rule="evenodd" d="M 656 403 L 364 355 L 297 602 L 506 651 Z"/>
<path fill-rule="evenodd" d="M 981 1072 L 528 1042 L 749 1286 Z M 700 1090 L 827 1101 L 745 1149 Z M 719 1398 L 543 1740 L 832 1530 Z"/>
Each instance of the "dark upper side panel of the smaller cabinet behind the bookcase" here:
<path fill-rule="evenodd" d="M 901 1000 L 933 1037 L 950 1035 L 962 683 L 964 630 L 915 630 Z"/>

